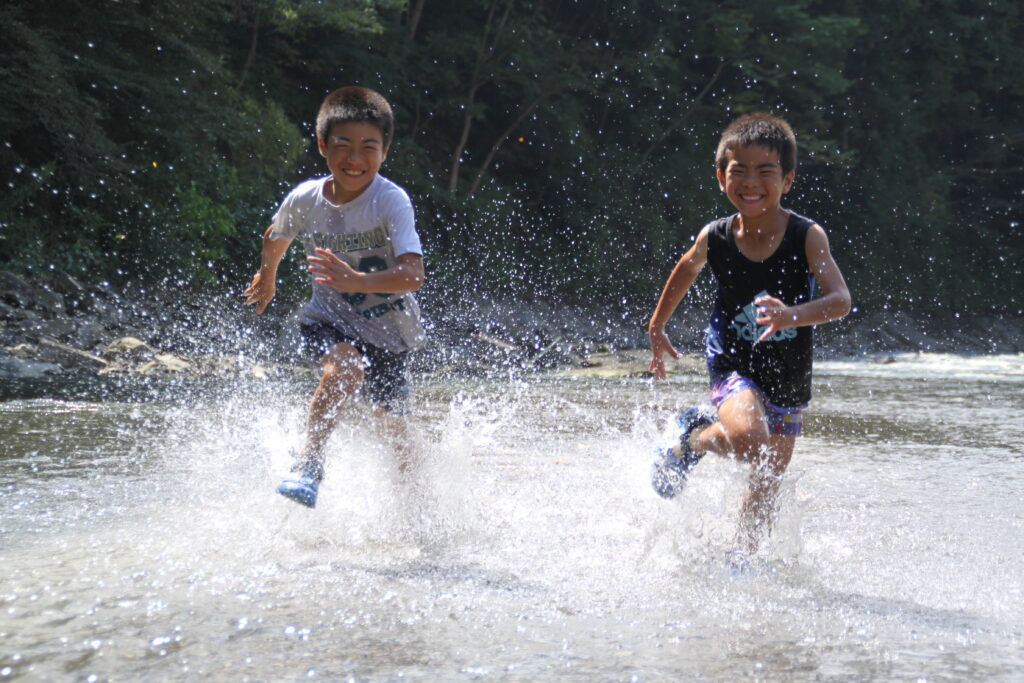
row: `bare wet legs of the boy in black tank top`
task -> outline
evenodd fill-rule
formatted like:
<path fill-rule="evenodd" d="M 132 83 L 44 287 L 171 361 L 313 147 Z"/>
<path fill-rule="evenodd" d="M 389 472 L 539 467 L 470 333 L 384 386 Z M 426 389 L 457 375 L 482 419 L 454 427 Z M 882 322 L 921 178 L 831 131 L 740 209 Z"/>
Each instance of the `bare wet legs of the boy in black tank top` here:
<path fill-rule="evenodd" d="M 739 541 L 748 552 L 771 531 L 781 475 L 793 458 L 796 436 L 771 434 L 760 397 L 751 390 L 729 397 L 718 409 L 720 422 L 691 437 L 695 451 L 710 451 L 750 463 L 751 478 L 740 509 Z"/>

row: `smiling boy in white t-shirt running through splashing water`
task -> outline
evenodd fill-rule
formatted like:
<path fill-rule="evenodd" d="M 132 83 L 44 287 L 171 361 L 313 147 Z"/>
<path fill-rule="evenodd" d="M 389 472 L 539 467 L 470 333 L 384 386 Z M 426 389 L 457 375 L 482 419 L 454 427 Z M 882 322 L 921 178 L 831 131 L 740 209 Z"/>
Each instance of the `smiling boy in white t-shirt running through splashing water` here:
<path fill-rule="evenodd" d="M 350 86 L 324 99 L 316 143 L 331 175 L 299 184 L 282 202 L 263 233 L 259 271 L 244 292 L 257 313 L 266 310 L 278 265 L 294 239 L 302 242 L 313 278 L 302 343 L 323 374 L 305 443 L 278 493 L 310 508 L 324 477 L 324 447 L 341 407 L 357 392 L 394 440 L 399 469 L 411 464 L 406 360 L 424 340 L 412 294 L 423 286 L 423 251 L 409 196 L 378 174 L 393 131 L 391 108 L 373 90 Z"/>

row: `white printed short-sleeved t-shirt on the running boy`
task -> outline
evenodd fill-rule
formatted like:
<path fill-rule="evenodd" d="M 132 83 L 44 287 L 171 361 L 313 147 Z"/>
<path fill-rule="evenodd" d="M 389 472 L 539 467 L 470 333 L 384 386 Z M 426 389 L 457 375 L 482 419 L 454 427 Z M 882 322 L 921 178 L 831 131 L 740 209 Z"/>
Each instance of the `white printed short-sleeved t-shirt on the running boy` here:
<path fill-rule="evenodd" d="M 324 197 L 331 176 L 306 180 L 288 194 L 273 217 L 274 240 L 299 239 L 307 255 L 330 249 L 356 270 L 372 272 L 395 265 L 402 254 L 422 254 L 413 203 L 401 187 L 382 175 L 351 202 Z M 325 323 L 343 334 L 393 353 L 410 351 L 426 335 L 412 292 L 359 294 L 313 283 L 303 324 Z"/>

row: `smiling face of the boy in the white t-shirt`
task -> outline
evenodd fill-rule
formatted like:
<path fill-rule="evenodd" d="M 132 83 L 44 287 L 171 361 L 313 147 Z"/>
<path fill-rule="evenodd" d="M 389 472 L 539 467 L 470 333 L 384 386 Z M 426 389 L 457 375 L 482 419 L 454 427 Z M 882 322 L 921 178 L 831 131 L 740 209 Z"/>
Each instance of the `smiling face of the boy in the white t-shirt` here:
<path fill-rule="evenodd" d="M 317 139 L 321 156 L 331 170 L 332 199 L 344 204 L 361 195 L 387 158 L 380 128 L 365 121 L 331 126 L 327 139 Z"/>

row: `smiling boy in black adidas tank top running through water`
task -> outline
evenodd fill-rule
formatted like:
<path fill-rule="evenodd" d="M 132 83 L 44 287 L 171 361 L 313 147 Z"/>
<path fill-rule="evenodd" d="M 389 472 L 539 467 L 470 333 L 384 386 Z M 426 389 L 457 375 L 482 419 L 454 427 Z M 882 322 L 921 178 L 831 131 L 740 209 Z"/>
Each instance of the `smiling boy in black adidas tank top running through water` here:
<path fill-rule="evenodd" d="M 707 330 L 710 408 L 679 418 L 679 445 L 659 455 L 653 484 L 664 498 L 682 489 L 705 453 L 752 465 L 739 541 L 753 552 L 770 529 L 779 481 L 811 397 L 811 326 L 850 311 L 850 292 L 814 221 L 779 203 L 796 176 L 790 125 L 767 114 L 733 121 L 716 154 L 719 186 L 737 213 L 705 225 L 662 291 L 648 333 L 656 379 L 664 354 L 679 358 L 665 326 L 705 264 L 718 297 Z M 821 296 L 814 298 L 815 283 Z"/>

